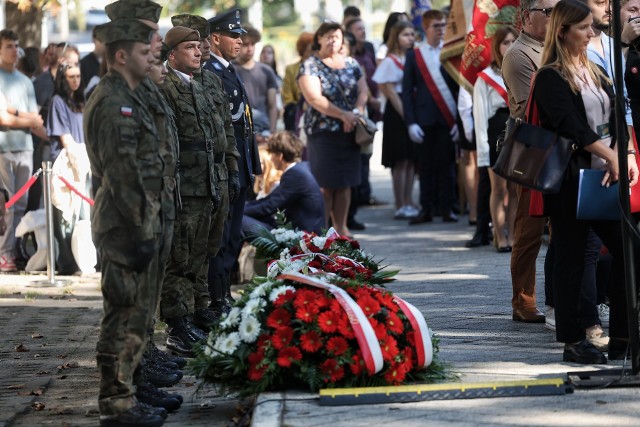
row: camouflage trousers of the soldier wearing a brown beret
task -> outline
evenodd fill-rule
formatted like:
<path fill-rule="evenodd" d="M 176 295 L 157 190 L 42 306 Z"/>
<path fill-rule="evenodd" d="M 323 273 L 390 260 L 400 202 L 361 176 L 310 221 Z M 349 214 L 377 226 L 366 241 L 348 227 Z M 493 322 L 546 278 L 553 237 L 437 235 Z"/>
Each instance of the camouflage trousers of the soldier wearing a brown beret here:
<path fill-rule="evenodd" d="M 183 317 L 194 311 L 196 277 L 202 265 L 208 264 L 212 210 L 213 202 L 207 197 L 182 197 L 160 298 L 162 319 Z"/>

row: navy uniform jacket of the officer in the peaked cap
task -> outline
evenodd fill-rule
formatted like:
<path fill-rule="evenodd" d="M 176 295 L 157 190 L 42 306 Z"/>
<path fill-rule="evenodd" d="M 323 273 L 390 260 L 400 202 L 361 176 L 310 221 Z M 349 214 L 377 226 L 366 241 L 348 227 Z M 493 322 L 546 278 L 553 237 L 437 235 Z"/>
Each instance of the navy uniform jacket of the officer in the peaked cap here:
<path fill-rule="evenodd" d="M 240 114 L 241 106 L 249 103 L 244 90 L 244 84 L 236 73 L 227 69 L 213 55 L 204 65 L 204 69 L 212 71 L 220 77 L 224 85 L 224 90 L 227 92 L 232 105 L 231 116 L 232 118 L 234 116 L 238 117 L 236 120 L 233 120 L 233 130 L 236 136 L 236 148 L 240 153 L 240 159 L 238 159 L 240 185 L 242 187 L 249 187 L 252 183 L 252 175 L 262 174 L 262 168 L 260 167 L 258 146 L 253 137 L 253 129 L 251 129 L 248 137 L 245 136 L 245 118 L 244 115 Z"/>

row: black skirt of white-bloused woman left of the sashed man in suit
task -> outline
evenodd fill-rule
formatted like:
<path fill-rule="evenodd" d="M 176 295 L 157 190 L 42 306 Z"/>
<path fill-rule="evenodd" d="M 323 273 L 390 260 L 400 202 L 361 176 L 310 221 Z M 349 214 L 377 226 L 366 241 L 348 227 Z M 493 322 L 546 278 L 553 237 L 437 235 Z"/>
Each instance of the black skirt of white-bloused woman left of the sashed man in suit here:
<path fill-rule="evenodd" d="M 382 132 L 382 166 L 393 168 L 396 162 L 415 159 L 416 145 L 409 138 L 407 125 L 390 102 L 384 109 Z"/>

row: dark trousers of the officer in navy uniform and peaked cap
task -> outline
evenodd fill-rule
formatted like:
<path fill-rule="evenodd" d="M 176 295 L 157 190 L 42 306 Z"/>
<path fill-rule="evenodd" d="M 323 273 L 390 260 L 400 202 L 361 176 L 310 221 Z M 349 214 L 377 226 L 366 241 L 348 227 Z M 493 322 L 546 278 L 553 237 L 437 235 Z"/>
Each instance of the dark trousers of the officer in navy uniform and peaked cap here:
<path fill-rule="evenodd" d="M 220 250 L 209 259 L 209 295 L 212 301 L 231 294 L 230 275 L 242 247 L 242 216 L 247 190 L 247 187 L 241 187 L 236 200 L 229 206 L 229 219 L 224 224 Z"/>

